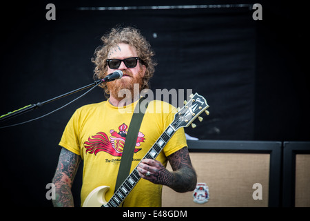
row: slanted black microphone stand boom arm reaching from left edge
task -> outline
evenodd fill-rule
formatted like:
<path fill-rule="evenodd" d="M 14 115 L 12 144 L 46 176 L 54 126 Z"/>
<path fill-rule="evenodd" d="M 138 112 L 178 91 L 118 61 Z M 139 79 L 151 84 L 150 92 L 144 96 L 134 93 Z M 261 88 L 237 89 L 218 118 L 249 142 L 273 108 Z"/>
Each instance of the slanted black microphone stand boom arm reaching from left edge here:
<path fill-rule="evenodd" d="M 74 93 L 76 93 L 76 92 L 79 92 L 79 91 L 81 91 L 81 90 L 85 90 L 86 88 L 90 88 L 90 87 L 92 87 L 92 86 L 94 86 L 94 87 L 95 87 L 95 86 L 98 86 L 98 85 L 101 84 L 103 81 L 105 81 L 105 79 L 99 79 L 99 80 L 94 81 L 94 83 L 92 83 L 92 84 L 88 84 L 87 86 L 83 86 L 83 87 L 81 87 L 81 88 L 78 88 L 78 89 L 76 89 L 76 90 L 72 90 L 72 91 L 70 91 L 70 92 L 68 92 L 68 93 L 65 93 L 65 94 L 63 94 L 63 95 L 54 97 L 54 98 L 52 98 L 52 99 L 48 99 L 48 100 L 45 101 L 45 102 L 38 102 L 37 104 L 29 104 L 28 106 L 24 106 L 23 108 L 19 108 L 19 109 L 17 109 L 16 111 L 9 112 L 9 113 L 7 113 L 6 115 L 1 115 L 1 116 L 0 116 L 0 122 L 4 121 L 4 120 L 6 120 L 6 119 L 10 119 L 10 118 L 12 118 L 12 117 L 16 117 L 16 116 L 18 116 L 18 115 L 22 115 L 23 113 L 26 113 L 26 112 L 28 112 L 28 111 L 32 111 L 32 110 L 34 110 L 34 109 L 40 108 L 40 107 L 43 106 L 44 104 L 48 104 L 48 103 L 50 103 L 50 102 L 54 102 L 56 99 L 61 99 L 61 98 L 66 97 L 66 96 L 68 96 L 68 95 L 72 95 L 72 94 L 74 94 Z"/>

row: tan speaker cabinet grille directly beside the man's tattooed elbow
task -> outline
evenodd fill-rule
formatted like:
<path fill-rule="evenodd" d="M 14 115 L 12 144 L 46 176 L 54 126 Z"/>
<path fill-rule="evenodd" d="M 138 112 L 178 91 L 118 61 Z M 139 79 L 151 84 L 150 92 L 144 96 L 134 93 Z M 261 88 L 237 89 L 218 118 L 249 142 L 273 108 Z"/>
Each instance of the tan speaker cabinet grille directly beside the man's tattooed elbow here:
<path fill-rule="evenodd" d="M 209 201 L 195 203 L 193 193 L 176 193 L 163 186 L 163 206 L 219 207 L 268 206 L 269 153 L 189 153 L 198 175 L 198 182 L 209 186 Z M 168 164 L 167 169 L 172 171 Z M 256 188 L 262 185 L 262 200 L 254 200 Z"/>

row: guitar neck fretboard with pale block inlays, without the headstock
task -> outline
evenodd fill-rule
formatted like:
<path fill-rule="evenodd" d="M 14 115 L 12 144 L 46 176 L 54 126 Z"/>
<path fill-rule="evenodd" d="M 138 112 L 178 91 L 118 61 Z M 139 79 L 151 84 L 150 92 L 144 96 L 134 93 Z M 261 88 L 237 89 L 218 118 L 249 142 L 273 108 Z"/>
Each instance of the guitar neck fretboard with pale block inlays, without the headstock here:
<path fill-rule="evenodd" d="M 154 143 L 154 145 L 149 149 L 147 154 L 143 157 L 143 159 L 152 159 L 154 160 L 159 153 L 163 150 L 164 146 L 167 144 L 167 142 L 170 140 L 172 135 L 176 133 L 176 129 L 172 124 L 170 124 L 164 133 L 161 135 L 161 137 L 158 138 L 158 140 Z M 118 207 L 121 205 L 121 203 L 125 200 L 127 195 L 134 189 L 134 186 L 138 183 L 138 181 L 141 179 L 140 175 L 138 174 L 138 166 L 128 175 L 126 180 L 121 184 L 121 186 L 115 191 L 114 195 L 112 195 L 112 198 L 107 202 L 107 204 L 103 205 L 105 207 Z"/>

